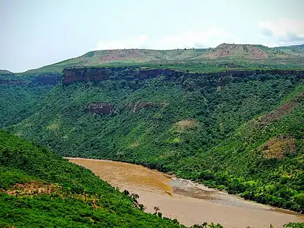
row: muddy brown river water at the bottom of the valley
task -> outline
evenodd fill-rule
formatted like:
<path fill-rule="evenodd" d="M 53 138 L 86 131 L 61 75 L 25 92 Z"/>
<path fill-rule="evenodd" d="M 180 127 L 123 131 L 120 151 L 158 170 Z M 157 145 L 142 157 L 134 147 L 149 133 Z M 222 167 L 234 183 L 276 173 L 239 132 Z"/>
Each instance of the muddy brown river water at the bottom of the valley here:
<path fill-rule="evenodd" d="M 118 187 L 137 193 L 145 211 L 153 213 L 159 207 L 163 216 L 176 218 L 186 226 L 202 222 L 218 222 L 224 227 L 282 227 L 288 222 L 304 222 L 304 217 L 292 211 L 243 200 L 202 184 L 171 177 L 136 164 L 68 158 L 91 169 L 100 178 Z"/>

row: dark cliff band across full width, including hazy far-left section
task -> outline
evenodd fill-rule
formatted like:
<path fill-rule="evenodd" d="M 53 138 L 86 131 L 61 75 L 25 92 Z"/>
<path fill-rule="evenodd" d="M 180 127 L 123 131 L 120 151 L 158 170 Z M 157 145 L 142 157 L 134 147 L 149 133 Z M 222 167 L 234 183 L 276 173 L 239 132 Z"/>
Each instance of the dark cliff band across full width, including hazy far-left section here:
<path fill-rule="evenodd" d="M 249 77 L 251 75 L 296 75 L 298 79 L 304 79 L 304 70 L 227 70 L 217 73 L 186 73 L 167 68 L 141 69 L 138 67 L 77 67 L 66 68 L 63 75 L 59 73 L 41 73 L 37 75 L 0 75 L 0 84 L 62 84 L 68 86 L 73 82 L 100 82 L 106 79 L 149 79 L 164 75 L 167 79 L 176 77 L 213 77 L 218 79 L 219 86 L 227 83 L 227 77 Z"/>

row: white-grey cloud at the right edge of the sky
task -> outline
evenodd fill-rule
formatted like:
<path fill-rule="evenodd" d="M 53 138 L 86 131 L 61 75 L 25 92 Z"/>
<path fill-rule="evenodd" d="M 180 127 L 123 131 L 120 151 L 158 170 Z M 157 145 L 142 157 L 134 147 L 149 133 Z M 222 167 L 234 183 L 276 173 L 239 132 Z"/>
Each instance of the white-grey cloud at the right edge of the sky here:
<path fill-rule="evenodd" d="M 277 46 L 304 43 L 304 21 L 293 19 L 260 21 L 258 27 L 262 30 L 263 36 Z"/>

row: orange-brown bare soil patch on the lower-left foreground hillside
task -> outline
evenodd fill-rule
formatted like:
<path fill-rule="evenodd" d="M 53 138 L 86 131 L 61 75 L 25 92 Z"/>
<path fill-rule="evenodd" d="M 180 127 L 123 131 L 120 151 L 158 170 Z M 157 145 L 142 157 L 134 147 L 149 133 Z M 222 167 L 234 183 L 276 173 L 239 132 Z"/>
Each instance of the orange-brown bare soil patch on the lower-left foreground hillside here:
<path fill-rule="evenodd" d="M 54 193 L 59 189 L 59 186 L 55 184 L 40 184 L 35 182 L 30 182 L 27 184 L 16 184 L 12 189 L 4 191 L 10 196 L 32 196 L 43 193 Z"/>

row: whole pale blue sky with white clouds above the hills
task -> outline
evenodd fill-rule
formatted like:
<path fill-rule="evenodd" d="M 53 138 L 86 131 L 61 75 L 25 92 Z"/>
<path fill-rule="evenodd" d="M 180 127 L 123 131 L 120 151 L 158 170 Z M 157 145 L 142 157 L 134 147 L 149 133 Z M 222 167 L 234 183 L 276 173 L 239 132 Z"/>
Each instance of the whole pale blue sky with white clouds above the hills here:
<path fill-rule="evenodd" d="M 117 48 L 304 44 L 303 0 L 0 0 L 0 69 Z"/>

